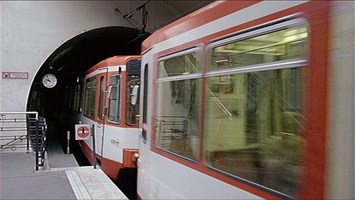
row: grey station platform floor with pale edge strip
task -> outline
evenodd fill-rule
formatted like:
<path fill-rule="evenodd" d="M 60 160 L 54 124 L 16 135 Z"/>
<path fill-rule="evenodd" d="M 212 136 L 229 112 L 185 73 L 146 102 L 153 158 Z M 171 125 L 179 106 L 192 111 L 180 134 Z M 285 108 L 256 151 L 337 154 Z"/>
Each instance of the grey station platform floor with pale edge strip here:
<path fill-rule="evenodd" d="M 49 149 L 43 169 L 33 152 L 0 153 L 0 199 L 128 199 L 98 167 Z"/>

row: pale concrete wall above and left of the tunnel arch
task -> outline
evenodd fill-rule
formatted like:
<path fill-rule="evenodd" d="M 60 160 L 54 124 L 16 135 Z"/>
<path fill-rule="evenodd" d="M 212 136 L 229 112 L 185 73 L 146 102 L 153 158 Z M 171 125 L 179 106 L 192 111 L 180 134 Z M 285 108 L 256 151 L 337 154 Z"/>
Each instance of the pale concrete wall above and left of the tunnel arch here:
<path fill-rule="evenodd" d="M 51 53 L 72 37 L 107 26 L 133 27 L 127 14 L 146 1 L 0 1 L 0 72 L 28 72 L 28 79 L 0 78 L 0 111 L 25 111 L 32 81 Z M 146 30 L 177 11 L 152 1 Z M 134 16 L 141 25 L 140 13 Z"/>

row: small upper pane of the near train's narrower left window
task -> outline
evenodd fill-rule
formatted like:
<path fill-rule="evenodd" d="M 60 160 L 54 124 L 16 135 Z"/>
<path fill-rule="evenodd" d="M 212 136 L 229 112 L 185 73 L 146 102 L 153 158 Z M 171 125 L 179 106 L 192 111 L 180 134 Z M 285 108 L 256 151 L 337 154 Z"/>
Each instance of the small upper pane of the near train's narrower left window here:
<path fill-rule="evenodd" d="M 164 78 L 200 72 L 201 69 L 197 61 L 196 53 L 189 53 L 162 60 L 159 62 L 158 77 Z"/>

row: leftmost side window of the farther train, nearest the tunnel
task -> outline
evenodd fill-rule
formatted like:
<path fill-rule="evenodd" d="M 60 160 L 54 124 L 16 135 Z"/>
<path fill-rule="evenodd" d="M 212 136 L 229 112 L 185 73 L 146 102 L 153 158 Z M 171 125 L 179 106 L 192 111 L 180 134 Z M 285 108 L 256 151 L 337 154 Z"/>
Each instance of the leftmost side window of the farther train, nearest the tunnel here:
<path fill-rule="evenodd" d="M 84 115 L 93 118 L 95 116 L 97 79 L 87 79 L 85 84 Z"/>

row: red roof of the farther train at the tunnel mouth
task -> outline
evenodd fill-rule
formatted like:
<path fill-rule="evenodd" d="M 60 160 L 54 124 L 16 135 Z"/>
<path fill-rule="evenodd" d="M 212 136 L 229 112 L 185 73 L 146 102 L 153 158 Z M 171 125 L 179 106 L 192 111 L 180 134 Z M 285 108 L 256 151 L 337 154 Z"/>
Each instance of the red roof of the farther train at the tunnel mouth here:
<path fill-rule="evenodd" d="M 91 67 L 88 71 L 86 71 L 86 74 L 91 73 L 97 69 L 100 69 L 102 67 L 107 67 L 107 66 L 116 66 L 116 65 L 125 65 L 129 60 L 132 59 L 140 59 L 140 55 L 127 55 L 127 56 L 112 56 L 109 58 L 106 58 L 105 60 L 100 61 L 93 67 Z"/>

